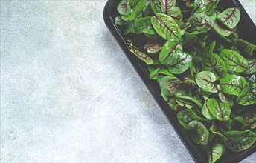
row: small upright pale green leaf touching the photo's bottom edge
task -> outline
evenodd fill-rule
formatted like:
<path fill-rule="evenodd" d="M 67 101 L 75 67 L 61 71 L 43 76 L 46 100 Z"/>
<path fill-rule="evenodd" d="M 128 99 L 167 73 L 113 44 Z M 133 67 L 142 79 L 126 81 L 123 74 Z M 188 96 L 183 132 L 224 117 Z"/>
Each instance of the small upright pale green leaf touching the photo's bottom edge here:
<path fill-rule="evenodd" d="M 207 163 L 216 162 L 218 159 L 220 159 L 223 153 L 225 153 L 225 146 L 220 143 L 214 144 L 214 146 L 211 148 L 210 156 L 208 156 L 209 159 Z"/>

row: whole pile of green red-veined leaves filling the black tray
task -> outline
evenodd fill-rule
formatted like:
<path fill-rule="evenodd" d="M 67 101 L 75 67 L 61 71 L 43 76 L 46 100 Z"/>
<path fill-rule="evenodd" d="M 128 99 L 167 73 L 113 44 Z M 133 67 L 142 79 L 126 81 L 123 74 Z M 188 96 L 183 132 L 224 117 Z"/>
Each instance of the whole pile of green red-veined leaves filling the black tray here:
<path fill-rule="evenodd" d="M 256 139 L 256 45 L 219 0 L 121 0 L 115 24 L 191 139 L 216 162 Z"/>

